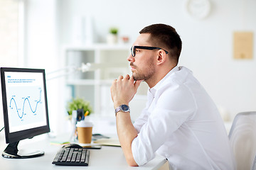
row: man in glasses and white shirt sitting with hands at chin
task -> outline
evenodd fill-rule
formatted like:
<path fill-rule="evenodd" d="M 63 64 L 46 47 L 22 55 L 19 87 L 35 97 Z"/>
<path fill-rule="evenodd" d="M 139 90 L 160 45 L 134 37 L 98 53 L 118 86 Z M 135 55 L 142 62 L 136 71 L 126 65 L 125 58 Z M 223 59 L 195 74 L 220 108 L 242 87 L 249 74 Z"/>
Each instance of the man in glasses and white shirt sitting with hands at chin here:
<path fill-rule="evenodd" d="M 218 109 L 192 72 L 177 66 L 182 42 L 176 30 L 154 24 L 139 33 L 127 58 L 132 76 L 119 76 L 111 86 L 127 163 L 141 166 L 157 153 L 171 169 L 235 169 Z M 142 81 L 148 101 L 132 124 L 129 102 Z"/>

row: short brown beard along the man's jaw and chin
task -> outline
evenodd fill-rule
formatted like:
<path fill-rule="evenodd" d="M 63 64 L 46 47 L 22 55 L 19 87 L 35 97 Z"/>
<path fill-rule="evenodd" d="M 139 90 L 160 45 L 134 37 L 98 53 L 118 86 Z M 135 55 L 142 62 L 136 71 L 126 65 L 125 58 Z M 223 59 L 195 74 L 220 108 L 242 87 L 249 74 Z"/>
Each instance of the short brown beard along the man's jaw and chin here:
<path fill-rule="evenodd" d="M 153 64 L 151 62 L 147 64 L 148 67 L 144 68 L 143 70 L 138 69 L 138 67 L 133 63 L 131 63 L 130 65 L 135 68 L 135 71 L 137 71 L 137 72 L 132 72 L 132 77 L 134 78 L 134 80 L 146 81 L 154 75 L 155 68 L 153 67 Z"/>

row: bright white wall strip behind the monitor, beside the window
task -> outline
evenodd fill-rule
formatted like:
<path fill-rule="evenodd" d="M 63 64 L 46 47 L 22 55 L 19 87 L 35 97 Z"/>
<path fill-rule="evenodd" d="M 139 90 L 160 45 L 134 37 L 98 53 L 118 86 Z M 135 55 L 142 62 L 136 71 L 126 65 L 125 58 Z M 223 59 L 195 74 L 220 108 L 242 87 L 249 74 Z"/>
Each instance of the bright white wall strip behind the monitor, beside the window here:
<path fill-rule="evenodd" d="M 61 132 L 65 117 L 63 79 L 48 81 L 48 73 L 62 67 L 58 54 L 58 11 L 55 0 L 25 2 L 25 65 L 46 69 L 48 113 L 52 132 Z"/>

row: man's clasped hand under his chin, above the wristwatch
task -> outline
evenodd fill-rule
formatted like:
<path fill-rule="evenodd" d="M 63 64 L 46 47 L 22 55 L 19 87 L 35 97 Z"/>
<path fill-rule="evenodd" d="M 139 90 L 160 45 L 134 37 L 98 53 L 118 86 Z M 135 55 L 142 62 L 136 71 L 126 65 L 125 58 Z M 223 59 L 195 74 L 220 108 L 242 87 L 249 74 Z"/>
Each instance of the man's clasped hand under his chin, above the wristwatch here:
<path fill-rule="evenodd" d="M 122 104 L 129 104 L 134 95 L 137 93 L 137 89 L 142 80 L 135 81 L 133 77 L 119 76 L 118 79 L 114 80 L 111 86 L 111 97 L 114 102 L 114 108 Z"/>

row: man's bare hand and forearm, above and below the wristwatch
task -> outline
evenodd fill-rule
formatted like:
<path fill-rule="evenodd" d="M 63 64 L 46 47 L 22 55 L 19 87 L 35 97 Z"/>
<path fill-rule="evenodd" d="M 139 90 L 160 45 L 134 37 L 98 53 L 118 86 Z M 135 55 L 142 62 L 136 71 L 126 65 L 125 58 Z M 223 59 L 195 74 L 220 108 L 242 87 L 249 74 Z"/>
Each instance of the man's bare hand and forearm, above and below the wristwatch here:
<path fill-rule="evenodd" d="M 134 81 L 133 77 L 129 77 L 129 75 L 119 76 L 118 79 L 114 80 L 111 86 L 114 108 L 122 104 L 129 105 L 129 101 L 136 94 L 141 82 L 142 80 Z M 132 125 L 129 113 L 117 114 L 117 135 L 127 163 L 130 166 L 138 166 L 132 155 L 132 141 L 137 137 L 137 130 Z"/>

